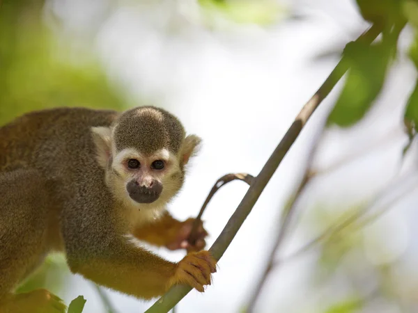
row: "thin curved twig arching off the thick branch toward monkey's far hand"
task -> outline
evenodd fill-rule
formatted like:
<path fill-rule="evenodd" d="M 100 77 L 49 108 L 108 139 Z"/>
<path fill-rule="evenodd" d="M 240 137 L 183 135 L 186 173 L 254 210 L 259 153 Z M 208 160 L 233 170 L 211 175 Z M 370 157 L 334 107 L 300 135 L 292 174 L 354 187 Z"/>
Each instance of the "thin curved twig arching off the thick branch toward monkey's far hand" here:
<path fill-rule="evenodd" d="M 210 193 L 208 194 L 208 197 L 206 197 L 205 202 L 203 202 L 202 208 L 199 211 L 199 214 L 196 216 L 196 219 L 193 222 L 192 230 L 190 231 L 189 241 L 190 244 L 194 245 L 196 243 L 196 230 L 197 227 L 199 227 L 199 221 L 202 218 L 203 212 L 205 211 L 206 207 L 208 206 L 208 203 L 210 200 L 212 200 L 213 195 L 217 193 L 217 191 L 222 187 L 228 184 L 229 182 L 233 182 L 234 180 L 242 180 L 242 182 L 246 182 L 249 186 L 251 186 L 251 182 L 253 181 L 254 177 L 252 175 L 249 175 L 245 172 L 240 172 L 237 174 L 226 174 L 219 178 L 217 182 L 213 185 L 212 189 L 210 190 Z"/>

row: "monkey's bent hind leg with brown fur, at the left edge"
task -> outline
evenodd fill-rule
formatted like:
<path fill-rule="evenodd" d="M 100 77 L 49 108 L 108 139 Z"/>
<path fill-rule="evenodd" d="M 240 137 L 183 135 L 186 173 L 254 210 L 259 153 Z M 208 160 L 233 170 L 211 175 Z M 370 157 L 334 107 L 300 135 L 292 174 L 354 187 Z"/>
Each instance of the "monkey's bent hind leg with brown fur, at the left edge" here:
<path fill-rule="evenodd" d="M 0 313 L 62 313 L 61 299 L 45 289 L 13 294 L 48 252 L 51 188 L 34 170 L 0 174 Z"/>

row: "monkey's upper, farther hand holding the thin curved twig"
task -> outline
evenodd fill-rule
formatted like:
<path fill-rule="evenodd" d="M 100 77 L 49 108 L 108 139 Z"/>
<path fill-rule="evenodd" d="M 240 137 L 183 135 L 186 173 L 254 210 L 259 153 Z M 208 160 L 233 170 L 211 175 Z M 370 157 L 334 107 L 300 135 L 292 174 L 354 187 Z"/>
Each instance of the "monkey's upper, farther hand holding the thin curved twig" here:
<path fill-rule="evenodd" d="M 166 247 L 170 250 L 186 249 L 187 252 L 200 251 L 205 248 L 205 238 L 208 236 L 208 232 L 203 228 L 201 220 L 199 220 L 199 225 L 194 234 L 194 243 L 189 243 L 187 240 L 192 232 L 194 220 L 194 218 L 187 218 L 184 222 L 180 222 L 176 227 L 173 239 L 167 243 Z"/>

